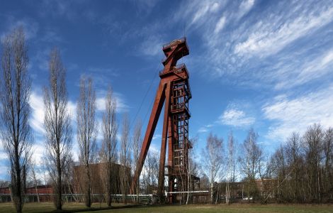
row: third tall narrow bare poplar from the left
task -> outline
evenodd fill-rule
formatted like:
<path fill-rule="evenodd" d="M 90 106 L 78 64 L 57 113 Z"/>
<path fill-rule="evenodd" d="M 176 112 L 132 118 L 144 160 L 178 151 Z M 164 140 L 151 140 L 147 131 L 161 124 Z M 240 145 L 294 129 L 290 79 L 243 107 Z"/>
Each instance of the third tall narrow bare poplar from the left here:
<path fill-rule="evenodd" d="M 86 207 L 91 207 L 91 170 L 90 164 L 96 155 L 96 92 L 92 80 L 81 77 L 80 97 L 77 102 L 77 141 L 79 143 L 79 160 L 84 166 L 84 194 Z"/>

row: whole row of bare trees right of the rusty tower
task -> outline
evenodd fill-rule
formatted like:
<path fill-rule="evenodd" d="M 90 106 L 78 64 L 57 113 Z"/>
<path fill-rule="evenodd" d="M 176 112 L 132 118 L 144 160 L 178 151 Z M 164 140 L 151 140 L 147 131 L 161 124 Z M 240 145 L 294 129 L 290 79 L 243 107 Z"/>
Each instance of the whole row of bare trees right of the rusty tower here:
<path fill-rule="evenodd" d="M 303 135 L 294 132 L 272 155 L 264 153 L 257 138 L 250 129 L 244 142 L 235 146 L 231 132 L 223 146 L 222 138 L 210 133 L 203 173 L 211 202 L 333 202 L 332 128 L 313 124 Z"/>

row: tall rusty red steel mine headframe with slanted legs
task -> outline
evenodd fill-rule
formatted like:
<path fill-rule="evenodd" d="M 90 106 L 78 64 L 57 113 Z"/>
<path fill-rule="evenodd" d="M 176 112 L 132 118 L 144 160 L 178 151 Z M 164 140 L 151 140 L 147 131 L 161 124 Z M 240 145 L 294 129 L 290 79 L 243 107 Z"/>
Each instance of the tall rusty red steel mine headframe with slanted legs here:
<path fill-rule="evenodd" d="M 191 114 L 188 101 L 191 99 L 191 89 L 188 84 L 188 71 L 184 64 L 177 61 L 189 54 L 186 38 L 174 40 L 163 45 L 166 58 L 163 60 L 164 70 L 159 72 L 161 78 L 154 105 L 149 117 L 145 138 L 142 143 L 140 158 L 132 180 L 131 193 L 135 192 L 137 180 L 154 135 L 159 115 L 164 105 L 164 121 L 162 131 L 161 154 L 159 158 L 159 180 L 157 194 L 164 200 L 164 177 L 168 177 L 169 192 L 188 191 L 188 150 L 192 148 L 188 140 L 188 119 Z M 165 102 L 165 104 L 164 104 Z M 165 165 L 166 145 L 168 146 L 168 161 Z M 169 193 L 169 202 L 175 201 L 176 194 Z M 162 201 L 163 202 L 163 201 Z"/>

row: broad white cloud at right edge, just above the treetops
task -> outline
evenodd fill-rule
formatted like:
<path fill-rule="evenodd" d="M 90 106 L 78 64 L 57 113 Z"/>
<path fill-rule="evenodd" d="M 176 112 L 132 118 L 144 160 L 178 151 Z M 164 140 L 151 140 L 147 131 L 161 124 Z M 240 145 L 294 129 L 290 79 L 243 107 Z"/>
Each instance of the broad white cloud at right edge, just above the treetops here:
<path fill-rule="evenodd" d="M 293 131 L 303 133 L 314 123 L 333 126 L 333 85 L 293 99 L 279 97 L 265 104 L 262 111 L 274 122 L 266 136 L 273 140 L 283 141 Z"/>

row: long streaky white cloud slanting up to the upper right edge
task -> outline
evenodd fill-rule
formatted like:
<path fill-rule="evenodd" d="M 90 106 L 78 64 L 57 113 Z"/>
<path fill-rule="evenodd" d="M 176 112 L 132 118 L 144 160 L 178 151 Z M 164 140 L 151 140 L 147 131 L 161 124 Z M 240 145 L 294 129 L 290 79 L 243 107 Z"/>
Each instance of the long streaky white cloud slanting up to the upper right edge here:
<path fill-rule="evenodd" d="M 275 19 L 274 19 L 275 18 Z M 237 55 L 259 55 L 261 57 L 277 53 L 294 40 L 321 28 L 333 19 L 333 8 L 323 9 L 320 13 L 301 13 L 288 20 L 281 17 L 259 21 L 244 42 L 235 45 Z"/>

